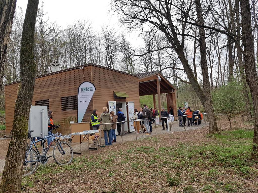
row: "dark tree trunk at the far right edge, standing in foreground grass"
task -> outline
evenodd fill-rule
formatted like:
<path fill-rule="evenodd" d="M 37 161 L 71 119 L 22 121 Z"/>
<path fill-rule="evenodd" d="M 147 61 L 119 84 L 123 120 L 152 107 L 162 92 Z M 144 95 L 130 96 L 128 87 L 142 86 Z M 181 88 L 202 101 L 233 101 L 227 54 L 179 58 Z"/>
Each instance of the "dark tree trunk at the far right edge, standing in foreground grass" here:
<path fill-rule="evenodd" d="M 242 41 L 244 46 L 246 82 L 249 86 L 254 107 L 253 159 L 258 160 L 258 77 L 255 69 L 254 41 L 249 0 L 240 0 L 242 14 Z"/>

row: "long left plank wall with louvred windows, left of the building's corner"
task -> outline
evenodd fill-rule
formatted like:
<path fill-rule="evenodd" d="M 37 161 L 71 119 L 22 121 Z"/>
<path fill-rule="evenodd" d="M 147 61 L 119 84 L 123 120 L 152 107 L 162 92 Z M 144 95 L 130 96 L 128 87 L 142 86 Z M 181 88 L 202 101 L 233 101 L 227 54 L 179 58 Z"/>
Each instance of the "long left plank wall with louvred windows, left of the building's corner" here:
<path fill-rule="evenodd" d="M 61 124 L 60 132 L 69 130 L 68 117 L 76 117 L 77 109 L 61 111 L 61 97 L 77 95 L 79 85 L 84 81 L 91 81 L 90 66 L 84 69 L 72 69 L 65 72 L 50 74 L 36 78 L 32 105 L 35 101 L 49 99 L 49 109 L 53 111 L 55 124 Z M 17 98 L 19 83 L 5 86 L 6 134 L 9 136 L 13 124 L 14 102 Z M 11 96 L 10 96 L 11 95 Z M 92 112 L 92 100 L 87 108 L 83 121 L 88 121 Z"/>

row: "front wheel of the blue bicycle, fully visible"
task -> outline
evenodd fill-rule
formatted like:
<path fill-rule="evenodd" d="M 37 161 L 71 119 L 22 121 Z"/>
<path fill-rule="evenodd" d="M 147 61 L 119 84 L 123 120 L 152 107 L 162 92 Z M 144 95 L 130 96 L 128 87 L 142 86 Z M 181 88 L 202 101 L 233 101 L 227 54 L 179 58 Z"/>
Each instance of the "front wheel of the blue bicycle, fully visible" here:
<path fill-rule="evenodd" d="M 65 141 L 59 141 L 54 146 L 53 157 L 55 162 L 59 165 L 71 163 L 72 158 L 74 157 L 71 145 Z"/>

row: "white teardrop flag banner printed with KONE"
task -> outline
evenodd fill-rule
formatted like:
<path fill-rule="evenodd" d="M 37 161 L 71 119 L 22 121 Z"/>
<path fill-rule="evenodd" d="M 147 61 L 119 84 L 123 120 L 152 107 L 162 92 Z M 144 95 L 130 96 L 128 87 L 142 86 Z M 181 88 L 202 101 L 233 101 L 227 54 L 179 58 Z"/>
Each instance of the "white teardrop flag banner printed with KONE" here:
<path fill-rule="evenodd" d="M 83 82 L 78 88 L 78 108 L 77 117 L 78 123 L 82 122 L 84 114 L 89 106 L 91 98 L 96 90 L 96 87 L 91 82 Z"/>

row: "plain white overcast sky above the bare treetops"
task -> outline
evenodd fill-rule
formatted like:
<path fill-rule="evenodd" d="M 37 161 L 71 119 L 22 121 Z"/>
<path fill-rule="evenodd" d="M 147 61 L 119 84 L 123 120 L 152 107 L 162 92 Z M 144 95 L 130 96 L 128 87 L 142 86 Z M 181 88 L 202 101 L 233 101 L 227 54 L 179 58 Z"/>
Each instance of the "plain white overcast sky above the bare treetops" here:
<path fill-rule="evenodd" d="M 67 24 L 76 20 L 85 19 L 92 22 L 93 29 L 101 31 L 102 25 L 110 24 L 118 32 L 124 29 L 119 27 L 118 17 L 109 13 L 111 0 L 45 0 L 44 11 L 47 12 L 50 22 L 57 21 L 58 25 L 66 28 Z M 17 7 L 21 7 L 25 15 L 28 0 L 17 0 Z M 39 8 L 42 1 L 39 2 Z M 132 33 L 128 38 L 133 46 L 139 44 L 138 34 Z M 141 41 L 141 40 L 140 40 Z"/>

